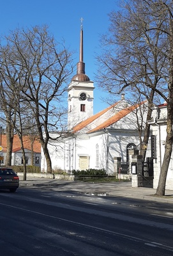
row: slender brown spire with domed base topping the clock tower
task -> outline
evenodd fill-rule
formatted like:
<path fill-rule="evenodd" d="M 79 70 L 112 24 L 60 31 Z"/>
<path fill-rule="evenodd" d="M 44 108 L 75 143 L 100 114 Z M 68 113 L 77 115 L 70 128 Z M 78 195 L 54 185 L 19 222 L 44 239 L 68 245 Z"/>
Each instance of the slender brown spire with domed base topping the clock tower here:
<path fill-rule="evenodd" d="M 89 77 L 86 76 L 85 72 L 85 63 L 84 63 L 84 54 L 83 54 L 83 28 L 82 28 L 82 21 L 84 19 L 80 19 L 80 49 L 79 49 L 79 62 L 77 63 L 77 74 L 73 76 L 71 81 L 90 81 Z"/>

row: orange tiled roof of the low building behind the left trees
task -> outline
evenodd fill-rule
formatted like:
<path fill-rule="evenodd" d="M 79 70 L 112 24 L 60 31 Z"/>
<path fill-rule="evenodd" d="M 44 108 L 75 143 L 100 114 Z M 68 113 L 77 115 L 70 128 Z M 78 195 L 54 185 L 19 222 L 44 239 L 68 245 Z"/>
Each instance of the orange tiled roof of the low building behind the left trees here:
<path fill-rule="evenodd" d="M 31 150 L 31 140 L 29 136 L 23 136 L 23 142 L 24 142 L 24 148 Z M 6 134 L 1 134 L 1 146 L 3 147 L 3 152 L 6 152 L 6 148 L 7 148 Z M 14 134 L 12 151 L 17 152 L 20 149 L 21 149 L 21 146 L 20 146 L 19 136 L 17 134 Z M 41 153 L 41 144 L 38 139 L 34 140 L 33 150 L 36 153 Z"/>

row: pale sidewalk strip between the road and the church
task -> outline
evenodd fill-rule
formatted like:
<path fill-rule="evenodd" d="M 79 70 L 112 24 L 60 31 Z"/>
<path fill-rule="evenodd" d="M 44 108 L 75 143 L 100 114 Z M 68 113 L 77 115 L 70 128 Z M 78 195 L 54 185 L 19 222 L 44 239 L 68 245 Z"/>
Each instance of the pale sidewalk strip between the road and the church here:
<path fill-rule="evenodd" d="M 75 193 L 84 193 L 86 195 L 100 196 L 121 196 L 126 198 L 135 198 L 138 200 L 150 200 L 154 202 L 164 202 L 173 204 L 173 190 L 165 191 L 165 196 L 154 196 L 156 189 L 152 188 L 132 188 L 131 182 L 82 182 L 57 179 L 28 179 L 20 180 L 20 187 L 41 187 L 51 186 L 56 191 L 73 191 Z"/>

